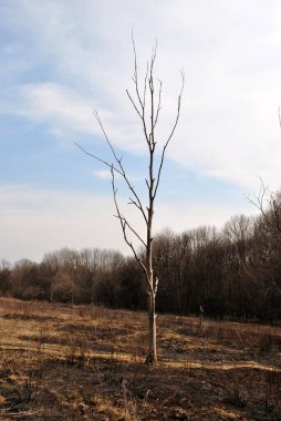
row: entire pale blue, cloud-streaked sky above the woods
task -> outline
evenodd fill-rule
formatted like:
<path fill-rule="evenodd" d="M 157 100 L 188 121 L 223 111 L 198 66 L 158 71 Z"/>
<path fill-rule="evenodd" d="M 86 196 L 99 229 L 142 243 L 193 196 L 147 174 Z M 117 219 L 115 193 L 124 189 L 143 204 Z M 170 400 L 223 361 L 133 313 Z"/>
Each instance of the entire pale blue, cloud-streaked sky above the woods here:
<path fill-rule="evenodd" d="M 62 247 L 124 254 L 93 110 L 146 199 L 147 151 L 126 90 L 134 92 L 157 40 L 163 82 L 157 145 L 180 120 L 166 154 L 155 232 L 222 227 L 254 214 L 259 177 L 280 188 L 279 0 L 1 0 L 0 260 L 40 261 Z M 119 182 L 117 179 L 117 182 Z M 126 192 L 124 214 L 144 232 Z"/>

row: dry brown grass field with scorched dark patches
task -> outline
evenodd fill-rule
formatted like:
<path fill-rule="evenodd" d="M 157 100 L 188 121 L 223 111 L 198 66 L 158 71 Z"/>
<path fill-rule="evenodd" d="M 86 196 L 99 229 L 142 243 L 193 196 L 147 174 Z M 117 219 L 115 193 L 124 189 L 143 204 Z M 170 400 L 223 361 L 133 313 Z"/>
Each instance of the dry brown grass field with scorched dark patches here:
<path fill-rule="evenodd" d="M 0 300 L 1 420 L 281 420 L 281 329 Z"/>

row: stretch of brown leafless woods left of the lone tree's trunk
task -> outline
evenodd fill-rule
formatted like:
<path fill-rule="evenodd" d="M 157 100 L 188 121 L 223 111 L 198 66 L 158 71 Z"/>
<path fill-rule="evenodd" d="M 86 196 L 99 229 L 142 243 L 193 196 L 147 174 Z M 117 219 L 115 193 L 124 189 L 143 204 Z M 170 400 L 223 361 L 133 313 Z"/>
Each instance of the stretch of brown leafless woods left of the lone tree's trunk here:
<path fill-rule="evenodd" d="M 103 304 L 140 309 L 145 306 L 142 271 L 135 260 L 114 250 L 63 248 L 42 261 L 2 261 L 0 294 L 28 300 Z"/>

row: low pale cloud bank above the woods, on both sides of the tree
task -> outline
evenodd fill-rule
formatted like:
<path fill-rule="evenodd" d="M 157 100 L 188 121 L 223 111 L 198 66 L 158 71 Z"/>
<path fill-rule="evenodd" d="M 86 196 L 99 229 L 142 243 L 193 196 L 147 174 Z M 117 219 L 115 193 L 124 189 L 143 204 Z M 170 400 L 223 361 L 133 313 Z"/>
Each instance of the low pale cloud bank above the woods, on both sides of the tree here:
<path fill-rule="evenodd" d="M 156 205 L 155 229 L 170 227 L 181 233 L 199 225 L 221 226 L 237 205 L 200 201 Z M 144 225 L 132 207 L 123 207 L 134 227 L 144 234 Z M 0 185 L 0 256 L 10 261 L 27 257 L 40 260 L 44 253 L 70 247 L 75 249 L 114 248 L 131 254 L 112 197 Z"/>

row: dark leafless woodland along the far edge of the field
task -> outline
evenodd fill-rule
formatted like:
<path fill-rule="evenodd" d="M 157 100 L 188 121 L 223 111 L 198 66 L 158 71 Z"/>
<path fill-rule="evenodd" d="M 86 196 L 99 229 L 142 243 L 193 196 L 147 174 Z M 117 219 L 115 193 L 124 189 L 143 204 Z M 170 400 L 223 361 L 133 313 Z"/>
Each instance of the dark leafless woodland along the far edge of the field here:
<path fill-rule="evenodd" d="M 281 319 L 281 199 L 259 217 L 232 217 L 222 229 L 166 229 L 154 238 L 157 311 L 216 318 Z M 2 261 L 0 292 L 22 299 L 146 308 L 142 269 L 113 250 L 61 249 L 40 264 Z"/>

